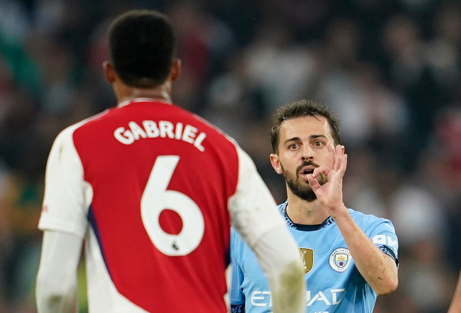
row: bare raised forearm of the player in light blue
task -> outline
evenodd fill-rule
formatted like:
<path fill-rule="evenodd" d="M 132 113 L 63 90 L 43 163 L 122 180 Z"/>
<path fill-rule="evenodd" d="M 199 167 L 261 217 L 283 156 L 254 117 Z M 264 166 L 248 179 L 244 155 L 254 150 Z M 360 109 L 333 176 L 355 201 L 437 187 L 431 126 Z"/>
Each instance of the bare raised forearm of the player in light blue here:
<path fill-rule="evenodd" d="M 398 279 L 395 261 L 366 236 L 345 207 L 335 215 L 333 219 L 366 282 L 378 295 L 396 290 Z"/>

